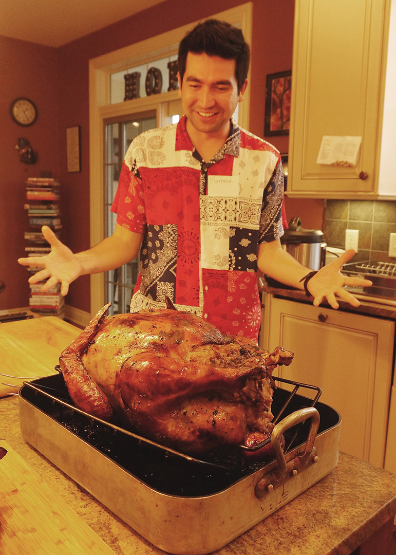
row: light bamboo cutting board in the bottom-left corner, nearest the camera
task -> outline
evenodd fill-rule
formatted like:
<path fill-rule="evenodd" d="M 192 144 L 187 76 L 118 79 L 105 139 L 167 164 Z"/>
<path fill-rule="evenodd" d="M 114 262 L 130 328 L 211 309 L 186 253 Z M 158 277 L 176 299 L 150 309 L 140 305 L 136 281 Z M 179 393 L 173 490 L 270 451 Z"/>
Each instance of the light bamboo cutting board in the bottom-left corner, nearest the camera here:
<path fill-rule="evenodd" d="M 0 457 L 2 454 L 2 555 L 114 555 L 93 529 L 4 440 L 0 441 Z"/>

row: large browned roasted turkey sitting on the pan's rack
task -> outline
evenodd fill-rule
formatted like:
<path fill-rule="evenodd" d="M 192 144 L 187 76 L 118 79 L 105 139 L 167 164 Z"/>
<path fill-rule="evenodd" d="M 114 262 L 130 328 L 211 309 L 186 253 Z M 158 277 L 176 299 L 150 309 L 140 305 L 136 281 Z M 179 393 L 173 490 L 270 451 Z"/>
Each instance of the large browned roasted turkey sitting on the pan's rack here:
<path fill-rule="evenodd" d="M 186 453 L 272 429 L 271 375 L 291 352 L 270 354 L 178 310 L 106 316 L 110 304 L 59 358 L 78 408 Z"/>

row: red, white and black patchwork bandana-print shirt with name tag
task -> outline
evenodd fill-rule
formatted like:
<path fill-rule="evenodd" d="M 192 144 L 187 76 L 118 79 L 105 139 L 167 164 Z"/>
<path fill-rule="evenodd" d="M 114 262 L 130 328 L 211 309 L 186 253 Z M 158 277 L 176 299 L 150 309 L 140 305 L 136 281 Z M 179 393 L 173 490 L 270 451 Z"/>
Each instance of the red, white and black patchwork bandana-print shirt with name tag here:
<path fill-rule="evenodd" d="M 257 247 L 280 238 L 283 171 L 278 151 L 237 127 L 209 163 L 185 116 L 130 144 L 111 211 L 143 233 L 131 312 L 165 306 L 257 341 Z"/>

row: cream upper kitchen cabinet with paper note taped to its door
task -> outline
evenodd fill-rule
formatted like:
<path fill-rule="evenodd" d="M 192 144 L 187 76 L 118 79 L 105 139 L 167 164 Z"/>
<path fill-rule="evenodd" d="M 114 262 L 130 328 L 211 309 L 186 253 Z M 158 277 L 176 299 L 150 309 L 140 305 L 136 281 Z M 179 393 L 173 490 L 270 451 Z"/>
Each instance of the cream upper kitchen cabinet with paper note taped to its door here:
<path fill-rule="evenodd" d="M 396 198 L 391 3 L 296 0 L 288 196 Z M 357 165 L 318 164 L 324 136 L 362 137 Z"/>

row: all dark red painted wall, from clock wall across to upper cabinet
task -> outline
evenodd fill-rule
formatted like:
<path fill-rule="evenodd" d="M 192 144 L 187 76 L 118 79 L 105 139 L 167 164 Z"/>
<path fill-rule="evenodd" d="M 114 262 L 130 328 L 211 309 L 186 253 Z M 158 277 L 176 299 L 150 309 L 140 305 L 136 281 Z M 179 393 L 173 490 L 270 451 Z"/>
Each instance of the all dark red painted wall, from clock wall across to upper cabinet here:
<path fill-rule="evenodd" d="M 5 199 L 0 213 L 0 280 L 6 281 L 7 292 L 0 295 L 0 308 L 28 304 L 26 270 L 16 263 L 23 251 L 27 219 L 22 210 L 26 176 L 39 175 L 39 170 L 44 169 L 53 171 L 62 183 L 63 240 L 74 251 L 89 246 L 89 59 L 241 3 L 241 0 L 217 0 L 216 3 L 200 0 L 187 7 L 185 0 L 166 0 L 58 49 L 0 37 L 0 63 L 4 69 L 0 68 L 8 76 L 7 88 L 0 93 L 2 120 L 6 122 L 6 133 L 0 135 L 2 155 L 7 151 L 3 166 L 7 174 L 0 175 L 2 203 Z M 266 75 L 292 67 L 293 16 L 294 0 L 253 1 L 250 130 L 261 137 Z M 21 129 L 16 129 L 18 126 L 10 122 L 7 114 L 12 98 L 19 95 L 31 97 L 40 114 L 37 123 L 29 132 L 24 132 L 40 156 L 39 163 L 30 168 L 18 162 L 13 143 Z M 65 130 L 74 125 L 81 128 L 82 171 L 68 173 Z M 288 151 L 287 136 L 268 140 L 282 153 Z M 322 214 L 320 221 L 321 218 Z M 88 276 L 72 284 L 67 302 L 90 311 Z"/>

